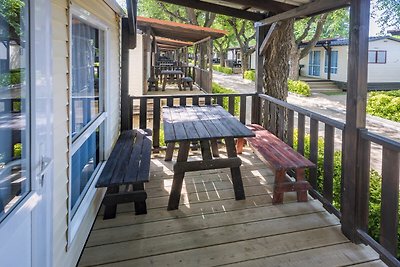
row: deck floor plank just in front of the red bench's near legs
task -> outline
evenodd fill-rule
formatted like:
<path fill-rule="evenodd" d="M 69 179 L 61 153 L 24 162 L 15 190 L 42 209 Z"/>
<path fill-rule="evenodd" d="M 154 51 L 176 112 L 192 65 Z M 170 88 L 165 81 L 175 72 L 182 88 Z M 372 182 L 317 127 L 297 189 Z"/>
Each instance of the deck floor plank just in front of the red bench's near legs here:
<path fill-rule="evenodd" d="M 92 231 L 86 247 L 98 246 L 107 243 L 122 242 L 182 233 L 201 229 L 224 227 L 228 225 L 247 224 L 265 220 L 276 220 L 291 216 L 310 215 L 324 212 L 320 205 L 301 205 L 292 203 L 288 205 L 259 207 L 230 211 L 220 214 L 197 215 L 190 217 L 174 218 L 163 221 L 132 224 L 123 227 L 107 228 Z M 337 221 L 337 223 L 339 223 Z"/>

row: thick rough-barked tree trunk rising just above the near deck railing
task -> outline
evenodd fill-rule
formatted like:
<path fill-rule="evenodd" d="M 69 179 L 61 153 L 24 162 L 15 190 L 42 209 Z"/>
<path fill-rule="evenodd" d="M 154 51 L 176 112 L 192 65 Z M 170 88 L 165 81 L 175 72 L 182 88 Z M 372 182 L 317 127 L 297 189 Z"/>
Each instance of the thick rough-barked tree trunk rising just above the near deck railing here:
<path fill-rule="evenodd" d="M 288 96 L 289 59 L 294 34 L 294 20 L 285 20 L 275 30 L 264 60 L 265 93 L 286 100 Z"/>

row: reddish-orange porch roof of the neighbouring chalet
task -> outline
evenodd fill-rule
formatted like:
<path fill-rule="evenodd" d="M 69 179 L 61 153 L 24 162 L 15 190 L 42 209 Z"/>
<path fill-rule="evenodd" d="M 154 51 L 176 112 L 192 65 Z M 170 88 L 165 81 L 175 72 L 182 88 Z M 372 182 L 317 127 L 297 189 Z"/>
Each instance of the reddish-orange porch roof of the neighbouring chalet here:
<path fill-rule="evenodd" d="M 192 43 L 201 41 L 207 37 L 217 39 L 227 33 L 226 31 L 213 28 L 140 16 L 137 17 L 137 26 L 142 31 L 151 29 L 156 37 L 168 38 L 170 40 L 175 40 L 176 42 L 181 41 Z"/>

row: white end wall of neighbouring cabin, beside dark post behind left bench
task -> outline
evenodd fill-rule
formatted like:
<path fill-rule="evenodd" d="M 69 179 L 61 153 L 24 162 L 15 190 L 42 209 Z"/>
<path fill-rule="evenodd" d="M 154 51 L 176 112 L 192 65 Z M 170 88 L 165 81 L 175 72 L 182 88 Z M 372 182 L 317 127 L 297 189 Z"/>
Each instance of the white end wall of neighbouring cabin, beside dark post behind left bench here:
<path fill-rule="evenodd" d="M 132 96 L 143 95 L 144 85 L 144 48 L 143 35 L 136 36 L 136 48 L 129 51 L 129 94 Z"/>

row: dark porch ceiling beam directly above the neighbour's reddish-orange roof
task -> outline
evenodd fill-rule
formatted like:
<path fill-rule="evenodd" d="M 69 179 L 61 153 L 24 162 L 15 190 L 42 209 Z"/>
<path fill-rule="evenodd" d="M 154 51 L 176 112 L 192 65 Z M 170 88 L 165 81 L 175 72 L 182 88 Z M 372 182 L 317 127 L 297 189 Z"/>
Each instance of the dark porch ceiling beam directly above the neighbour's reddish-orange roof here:
<path fill-rule="evenodd" d="M 194 9 L 200 9 L 204 11 L 209 11 L 217 14 L 222 14 L 226 16 L 247 19 L 252 21 L 259 21 L 265 18 L 264 14 L 255 13 L 250 11 L 244 11 L 236 8 L 231 8 L 227 6 L 216 5 L 208 2 L 202 2 L 199 0 L 159 0 L 169 4 L 190 7 Z"/>

